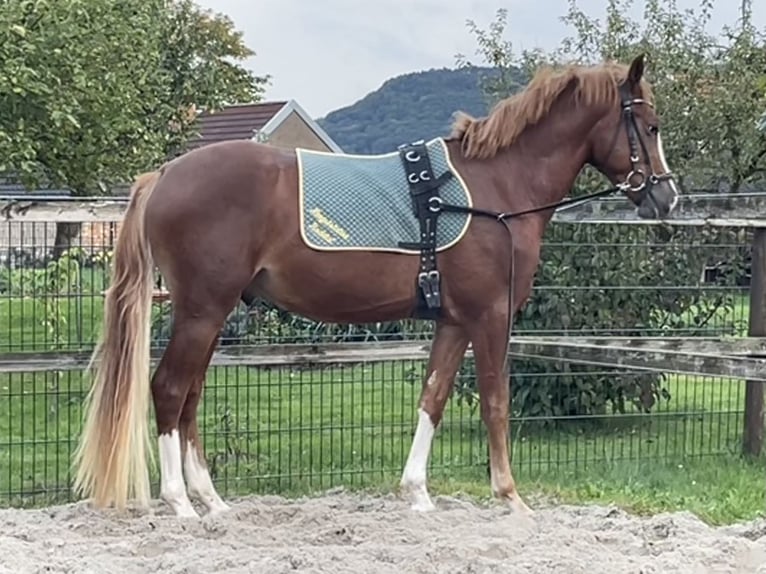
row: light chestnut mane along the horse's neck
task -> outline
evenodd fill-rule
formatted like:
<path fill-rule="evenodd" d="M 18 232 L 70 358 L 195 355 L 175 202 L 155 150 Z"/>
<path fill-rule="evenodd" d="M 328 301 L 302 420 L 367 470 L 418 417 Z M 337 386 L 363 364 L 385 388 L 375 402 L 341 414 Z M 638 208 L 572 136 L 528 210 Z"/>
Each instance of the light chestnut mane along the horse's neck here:
<path fill-rule="evenodd" d="M 599 66 L 570 64 L 541 68 L 522 91 L 500 100 L 489 115 L 473 118 L 457 112 L 449 139 L 461 142 L 468 158 L 488 158 L 512 145 L 521 133 L 543 119 L 564 90 L 575 82 L 575 105 L 617 105 L 617 86 L 625 80 L 628 66 L 605 63 Z M 651 88 L 641 82 L 642 95 L 651 99 Z"/>

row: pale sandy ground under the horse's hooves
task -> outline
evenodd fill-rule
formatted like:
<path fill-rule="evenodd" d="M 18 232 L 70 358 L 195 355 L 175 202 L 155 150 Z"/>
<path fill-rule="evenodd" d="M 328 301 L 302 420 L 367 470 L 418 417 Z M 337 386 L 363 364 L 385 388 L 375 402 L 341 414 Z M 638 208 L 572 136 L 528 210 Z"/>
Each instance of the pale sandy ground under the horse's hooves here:
<path fill-rule="evenodd" d="M 766 574 L 766 520 L 711 528 L 688 513 L 539 504 L 525 520 L 435 502 L 416 514 L 394 496 L 248 497 L 198 521 L 161 504 L 122 516 L 84 503 L 3 509 L 0 572 Z"/>

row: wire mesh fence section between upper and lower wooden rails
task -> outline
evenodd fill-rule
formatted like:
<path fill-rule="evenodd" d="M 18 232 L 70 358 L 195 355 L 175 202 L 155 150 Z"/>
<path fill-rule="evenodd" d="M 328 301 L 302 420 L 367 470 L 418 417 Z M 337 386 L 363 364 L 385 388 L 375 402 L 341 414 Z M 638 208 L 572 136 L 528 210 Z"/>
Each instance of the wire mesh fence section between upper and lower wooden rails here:
<path fill-rule="evenodd" d="M 0 351 L 92 347 L 118 225 L 79 224 L 65 249 L 60 241 L 67 232 L 57 230 L 56 222 L 0 223 Z M 747 229 L 551 225 L 535 291 L 514 331 L 744 334 L 750 234 Z M 57 251 L 63 255 L 54 259 Z M 168 304 L 155 307 L 155 346 L 167 342 L 169 311 Z M 431 332 L 429 323 L 412 320 L 316 323 L 257 302 L 249 308 L 240 303 L 231 313 L 221 344 L 412 340 Z"/>

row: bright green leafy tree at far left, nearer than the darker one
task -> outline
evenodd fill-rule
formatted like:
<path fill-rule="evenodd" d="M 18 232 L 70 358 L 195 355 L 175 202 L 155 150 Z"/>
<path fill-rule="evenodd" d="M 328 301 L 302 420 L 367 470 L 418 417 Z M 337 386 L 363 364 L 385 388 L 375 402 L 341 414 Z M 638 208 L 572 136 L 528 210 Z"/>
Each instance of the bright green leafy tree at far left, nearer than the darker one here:
<path fill-rule="evenodd" d="M 160 62 L 159 9 L 158 2 L 4 2 L 3 172 L 28 187 L 97 193 L 157 155 L 142 118 Z"/>

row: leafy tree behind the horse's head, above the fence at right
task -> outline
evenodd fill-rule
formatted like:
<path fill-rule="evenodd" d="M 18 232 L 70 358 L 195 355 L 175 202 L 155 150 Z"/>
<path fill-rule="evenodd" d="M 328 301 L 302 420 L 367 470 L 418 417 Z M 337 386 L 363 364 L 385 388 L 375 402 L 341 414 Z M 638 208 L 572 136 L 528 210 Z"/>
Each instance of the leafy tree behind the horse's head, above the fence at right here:
<path fill-rule="evenodd" d="M 641 3 L 641 22 L 628 16 L 634 0 L 609 0 L 600 21 L 569 0 L 563 20 L 575 34 L 551 53 L 510 52 L 510 44 L 502 43 L 504 10 L 498 11 L 491 33 L 470 20 L 468 26 L 486 62 L 500 68 L 517 65 L 527 73 L 543 64 L 627 61 L 647 53 L 665 152 L 682 183 L 696 188 L 723 184 L 736 191 L 762 180 L 766 134 L 755 126 L 766 105 L 766 36 L 752 24 L 750 2 L 743 2 L 737 27 L 720 31 L 720 40 L 706 31 L 713 0 L 701 0 L 696 11 L 680 11 L 675 0 Z M 492 91 L 513 89 L 499 85 Z"/>

